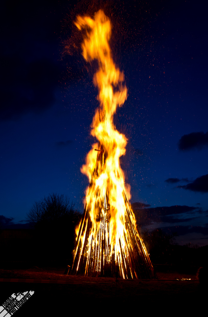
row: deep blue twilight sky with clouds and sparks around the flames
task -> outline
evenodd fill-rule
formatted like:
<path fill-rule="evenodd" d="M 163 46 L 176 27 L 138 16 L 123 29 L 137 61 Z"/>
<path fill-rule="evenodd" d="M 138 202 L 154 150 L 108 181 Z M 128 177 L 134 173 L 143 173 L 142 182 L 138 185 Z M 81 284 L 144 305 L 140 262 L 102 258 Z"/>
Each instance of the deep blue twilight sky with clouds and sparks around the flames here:
<path fill-rule="evenodd" d="M 51 192 L 67 194 L 83 211 L 88 182 L 80 167 L 94 142 L 89 131 L 98 103 L 96 65 L 83 61 L 73 21 L 103 8 L 128 87 L 114 122 L 129 140 L 121 164 L 130 203 L 142 229 L 178 232 L 179 244 L 208 244 L 204 1 L 23 0 L 2 6 L 2 225 L 25 223 L 32 204 Z"/>

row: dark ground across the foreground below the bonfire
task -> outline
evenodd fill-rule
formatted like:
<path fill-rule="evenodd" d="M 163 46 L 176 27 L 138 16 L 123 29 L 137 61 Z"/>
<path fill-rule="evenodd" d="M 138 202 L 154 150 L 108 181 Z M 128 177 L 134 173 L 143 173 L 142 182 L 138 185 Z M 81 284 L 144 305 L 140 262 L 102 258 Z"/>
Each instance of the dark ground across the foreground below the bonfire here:
<path fill-rule="evenodd" d="M 187 314 L 193 313 L 195 309 L 201 310 L 201 305 L 207 300 L 206 287 L 201 287 L 194 274 L 157 272 L 158 280 L 119 279 L 116 285 L 115 278 L 81 277 L 63 273 L 64 268 L 1 269 L 0 279 L 39 281 L 1 280 L 0 304 L 14 292 L 34 290 L 32 297 L 15 313 L 16 317 L 156 312 L 169 312 L 172 315 L 179 311 Z"/>

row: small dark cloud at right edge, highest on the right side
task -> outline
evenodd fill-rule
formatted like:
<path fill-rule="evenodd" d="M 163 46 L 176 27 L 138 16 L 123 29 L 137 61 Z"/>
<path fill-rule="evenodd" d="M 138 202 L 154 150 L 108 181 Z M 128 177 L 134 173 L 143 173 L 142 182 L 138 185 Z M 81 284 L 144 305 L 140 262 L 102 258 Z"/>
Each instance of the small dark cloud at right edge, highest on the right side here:
<path fill-rule="evenodd" d="M 208 146 L 208 132 L 193 132 L 185 134 L 179 140 L 178 146 L 179 150 L 190 150 L 196 147 L 201 149 L 203 146 Z"/>

